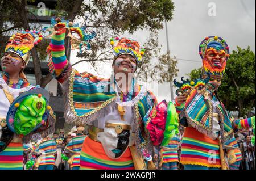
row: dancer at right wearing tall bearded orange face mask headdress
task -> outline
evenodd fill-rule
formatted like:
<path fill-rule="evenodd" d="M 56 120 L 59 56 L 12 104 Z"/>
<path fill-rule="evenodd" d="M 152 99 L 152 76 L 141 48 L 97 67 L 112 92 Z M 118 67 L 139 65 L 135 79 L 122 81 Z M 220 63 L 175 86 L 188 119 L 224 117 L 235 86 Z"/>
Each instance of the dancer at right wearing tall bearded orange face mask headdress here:
<path fill-rule="evenodd" d="M 177 90 L 176 110 L 180 123 L 187 127 L 180 162 L 187 170 L 226 170 L 240 160 L 234 152 L 238 144 L 233 134 L 233 117 L 217 95 L 229 47 L 221 37 L 209 36 L 200 43 L 199 54 L 203 59 L 201 78 L 191 82 L 174 81 L 180 88 Z"/>

